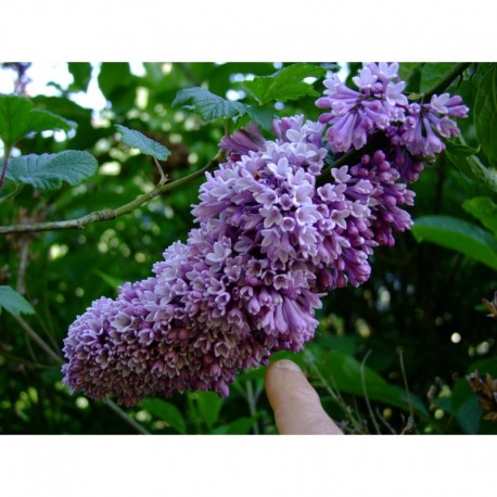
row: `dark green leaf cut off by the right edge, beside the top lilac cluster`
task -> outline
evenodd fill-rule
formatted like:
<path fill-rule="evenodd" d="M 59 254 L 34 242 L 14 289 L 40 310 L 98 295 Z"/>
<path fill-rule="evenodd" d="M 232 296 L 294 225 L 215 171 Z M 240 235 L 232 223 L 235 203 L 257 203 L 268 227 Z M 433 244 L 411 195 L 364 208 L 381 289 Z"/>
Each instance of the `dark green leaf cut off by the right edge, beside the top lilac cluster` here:
<path fill-rule="evenodd" d="M 497 65 L 485 74 L 474 102 L 476 136 L 493 166 L 497 165 Z"/>

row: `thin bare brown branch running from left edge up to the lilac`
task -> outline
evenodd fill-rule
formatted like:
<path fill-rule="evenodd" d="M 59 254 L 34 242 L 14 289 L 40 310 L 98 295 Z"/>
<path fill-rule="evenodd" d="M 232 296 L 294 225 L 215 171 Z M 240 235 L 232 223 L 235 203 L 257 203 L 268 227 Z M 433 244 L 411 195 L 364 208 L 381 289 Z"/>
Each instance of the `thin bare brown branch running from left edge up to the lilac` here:
<path fill-rule="evenodd" d="M 206 170 L 219 164 L 221 152 L 218 152 L 218 154 L 202 169 L 199 169 L 197 171 L 189 176 L 186 176 L 184 178 L 177 179 L 176 181 L 173 181 L 170 183 L 157 184 L 149 193 L 144 193 L 143 195 L 140 195 L 138 199 L 135 199 L 132 202 L 122 205 L 120 207 L 104 208 L 102 211 L 95 211 L 94 213 L 87 214 L 86 216 L 79 217 L 77 219 L 68 219 L 64 221 L 2 226 L 0 227 L 0 234 L 26 233 L 34 231 L 54 231 L 64 229 L 84 229 L 85 226 L 90 225 L 92 222 L 109 221 L 115 219 L 118 216 L 129 214 L 140 205 L 143 205 L 144 203 L 149 202 L 150 200 L 154 199 L 155 196 L 162 193 L 166 193 L 173 190 L 174 188 L 188 184 L 189 182 L 202 176 Z"/>

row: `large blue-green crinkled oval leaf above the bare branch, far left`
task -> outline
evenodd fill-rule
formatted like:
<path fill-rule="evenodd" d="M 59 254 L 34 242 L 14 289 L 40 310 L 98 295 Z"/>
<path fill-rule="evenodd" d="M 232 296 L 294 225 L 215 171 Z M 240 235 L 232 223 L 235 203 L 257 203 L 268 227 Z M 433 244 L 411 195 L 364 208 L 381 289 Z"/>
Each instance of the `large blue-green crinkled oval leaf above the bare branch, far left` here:
<path fill-rule="evenodd" d="M 39 190 L 56 190 L 62 182 L 78 184 L 97 173 L 98 163 L 88 152 L 66 150 L 58 154 L 22 155 L 9 162 L 5 177 Z"/>

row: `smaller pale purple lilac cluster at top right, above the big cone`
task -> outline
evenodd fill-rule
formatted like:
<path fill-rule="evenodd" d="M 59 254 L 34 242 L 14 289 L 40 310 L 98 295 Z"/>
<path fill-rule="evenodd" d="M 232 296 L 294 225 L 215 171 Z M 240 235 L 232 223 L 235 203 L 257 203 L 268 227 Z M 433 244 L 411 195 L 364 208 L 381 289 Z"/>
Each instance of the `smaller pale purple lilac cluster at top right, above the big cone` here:
<path fill-rule="evenodd" d="M 423 161 L 445 149 L 443 139 L 459 133 L 453 118 L 468 116 L 459 95 L 434 94 L 430 103 L 409 103 L 397 63 L 364 64 L 353 81 L 358 91 L 333 75 L 324 80 L 326 97 L 316 102 L 318 107 L 331 110 L 319 117 L 320 123 L 330 125 L 329 146 L 334 153 L 361 149 L 371 135 L 381 131 L 395 146 L 392 158 L 405 181 L 417 180 Z"/>

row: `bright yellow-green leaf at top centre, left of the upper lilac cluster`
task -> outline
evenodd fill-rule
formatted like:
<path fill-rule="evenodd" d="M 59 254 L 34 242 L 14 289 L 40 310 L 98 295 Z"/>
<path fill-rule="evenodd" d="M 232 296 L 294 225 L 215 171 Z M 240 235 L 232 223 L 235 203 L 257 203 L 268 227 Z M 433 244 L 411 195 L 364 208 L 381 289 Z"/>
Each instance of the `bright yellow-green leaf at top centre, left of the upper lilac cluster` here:
<path fill-rule="evenodd" d="M 292 64 L 277 71 L 271 76 L 258 76 L 252 81 L 244 81 L 246 88 L 260 104 L 270 102 L 286 102 L 302 97 L 319 97 L 311 85 L 305 82 L 307 77 L 321 78 L 327 69 L 311 64 Z"/>

